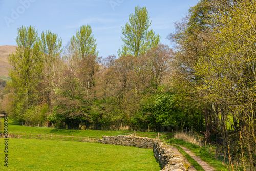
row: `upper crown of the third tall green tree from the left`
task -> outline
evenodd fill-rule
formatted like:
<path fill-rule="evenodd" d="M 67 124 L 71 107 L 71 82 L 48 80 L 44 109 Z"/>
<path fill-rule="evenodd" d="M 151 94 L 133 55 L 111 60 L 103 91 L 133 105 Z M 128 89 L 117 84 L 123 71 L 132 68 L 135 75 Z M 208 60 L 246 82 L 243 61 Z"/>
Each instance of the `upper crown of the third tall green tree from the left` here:
<path fill-rule="evenodd" d="M 71 38 L 71 45 L 79 49 L 80 58 L 84 59 L 88 55 L 98 56 L 96 51 L 97 43 L 90 25 L 83 25 L 76 31 L 76 36 Z"/>

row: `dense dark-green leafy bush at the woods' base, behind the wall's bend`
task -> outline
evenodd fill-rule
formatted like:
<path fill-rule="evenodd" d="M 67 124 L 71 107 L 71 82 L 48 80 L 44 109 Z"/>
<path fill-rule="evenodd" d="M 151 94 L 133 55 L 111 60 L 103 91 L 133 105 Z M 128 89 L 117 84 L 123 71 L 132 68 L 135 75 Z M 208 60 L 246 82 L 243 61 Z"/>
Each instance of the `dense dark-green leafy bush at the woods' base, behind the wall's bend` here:
<path fill-rule="evenodd" d="M 147 124 L 155 130 L 171 131 L 182 129 L 183 125 L 189 129 L 201 131 L 203 116 L 197 108 L 189 110 L 179 107 L 176 94 L 161 92 L 147 98 L 141 105 L 141 110 L 132 118 L 132 123 L 147 129 Z"/>

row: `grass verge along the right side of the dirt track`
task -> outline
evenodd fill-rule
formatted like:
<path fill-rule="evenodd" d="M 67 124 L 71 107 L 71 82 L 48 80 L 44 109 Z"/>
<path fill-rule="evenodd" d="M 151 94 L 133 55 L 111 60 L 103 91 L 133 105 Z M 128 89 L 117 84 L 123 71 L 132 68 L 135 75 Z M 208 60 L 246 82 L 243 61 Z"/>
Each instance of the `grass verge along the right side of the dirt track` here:
<path fill-rule="evenodd" d="M 182 145 L 187 149 L 190 149 L 191 152 L 195 153 L 195 155 L 199 156 L 203 161 L 205 161 L 218 171 L 228 171 L 228 169 L 222 164 L 222 162 L 216 160 L 211 154 L 205 152 L 203 148 L 200 149 L 200 147 L 197 145 L 175 138 L 171 138 L 166 142 L 168 142 L 170 145 L 177 144 Z"/>

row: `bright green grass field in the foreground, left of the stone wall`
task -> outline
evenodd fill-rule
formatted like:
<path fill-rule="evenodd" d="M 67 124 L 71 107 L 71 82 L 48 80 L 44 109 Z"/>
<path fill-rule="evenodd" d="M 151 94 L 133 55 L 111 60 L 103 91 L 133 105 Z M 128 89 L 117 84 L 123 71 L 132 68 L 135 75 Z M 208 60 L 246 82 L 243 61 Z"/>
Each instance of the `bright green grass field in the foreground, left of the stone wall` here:
<path fill-rule="evenodd" d="M 35 139 L 9 139 L 6 168 L 0 142 L 0 170 L 160 170 L 150 149 Z"/>

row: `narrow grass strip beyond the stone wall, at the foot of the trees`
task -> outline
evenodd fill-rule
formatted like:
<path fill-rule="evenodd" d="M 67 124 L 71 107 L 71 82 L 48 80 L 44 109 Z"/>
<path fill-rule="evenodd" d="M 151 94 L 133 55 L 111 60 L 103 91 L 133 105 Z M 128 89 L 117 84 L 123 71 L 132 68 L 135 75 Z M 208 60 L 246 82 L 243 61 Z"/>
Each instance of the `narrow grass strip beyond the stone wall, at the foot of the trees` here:
<path fill-rule="evenodd" d="M 4 120 L 1 119 L 3 122 Z M 98 137 L 102 138 L 102 136 L 116 136 L 116 135 L 131 135 L 134 133 L 134 131 L 127 131 L 127 130 L 119 130 L 119 131 L 102 131 L 102 130 L 70 130 L 70 129 L 53 129 L 53 128 L 47 128 L 47 127 L 29 127 L 29 126 L 21 126 L 21 123 L 12 119 L 8 119 L 8 132 L 9 133 L 15 133 L 20 134 L 26 133 L 27 135 L 30 134 L 54 134 L 54 135 L 66 135 L 66 136 L 79 136 L 79 137 Z M 141 137 L 149 137 L 149 138 L 156 138 L 158 132 L 136 132 L 136 135 Z M 169 136 L 170 134 L 161 133 L 164 134 L 161 136 L 161 138 L 165 138 Z"/>

